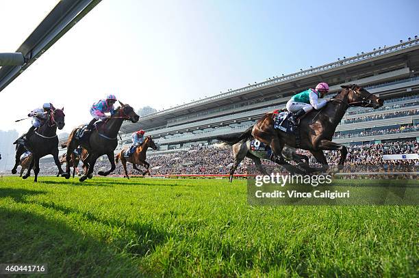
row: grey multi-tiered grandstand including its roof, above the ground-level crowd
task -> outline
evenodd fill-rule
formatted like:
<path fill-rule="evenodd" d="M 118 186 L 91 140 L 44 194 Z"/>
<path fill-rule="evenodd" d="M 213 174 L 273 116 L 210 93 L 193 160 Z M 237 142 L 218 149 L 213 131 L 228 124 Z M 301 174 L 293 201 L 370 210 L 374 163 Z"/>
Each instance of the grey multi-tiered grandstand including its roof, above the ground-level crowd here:
<path fill-rule="evenodd" d="M 290 96 L 319 81 L 331 85 L 357 83 L 385 100 L 384 107 L 348 109 L 334 141 L 347 145 L 416 140 L 419 137 L 419 39 L 385 46 L 368 53 L 272 77 L 179 107 L 150 113 L 136 124 L 125 123 L 119 149 L 131 143 L 131 133 L 142 128 L 160 145 L 157 153 L 208 145 L 217 135 L 238 133 L 264 113 L 285 107 Z"/>

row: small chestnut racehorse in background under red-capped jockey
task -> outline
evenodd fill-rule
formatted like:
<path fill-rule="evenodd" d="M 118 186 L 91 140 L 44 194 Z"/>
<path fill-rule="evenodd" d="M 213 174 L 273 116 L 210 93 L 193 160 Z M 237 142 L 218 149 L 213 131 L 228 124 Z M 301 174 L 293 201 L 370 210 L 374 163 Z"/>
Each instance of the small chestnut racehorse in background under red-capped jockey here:
<path fill-rule="evenodd" d="M 149 170 L 150 164 L 147 163 L 147 161 L 145 161 L 147 149 L 149 147 L 151 147 L 153 150 L 157 150 L 157 145 L 155 145 L 153 139 L 151 139 L 151 136 L 147 136 L 146 139 L 144 139 L 144 142 L 142 142 L 142 144 L 136 148 L 136 152 L 134 152 L 134 154 L 131 154 L 131 156 L 129 156 L 128 158 L 124 156 L 124 152 L 127 150 L 127 148 L 121 150 L 119 154 L 116 154 L 115 161 L 116 163 L 118 163 L 118 160 L 120 160 L 120 163 L 122 163 L 124 167 L 125 176 L 128 178 L 128 180 L 129 176 L 127 171 L 127 162 L 132 163 L 132 167 L 140 173 L 142 173 L 142 171 L 137 168 L 137 164 L 144 166 L 146 168 L 146 171 L 142 173 L 142 176 L 145 176 L 146 173 L 149 173 L 149 176 L 151 176 Z"/>

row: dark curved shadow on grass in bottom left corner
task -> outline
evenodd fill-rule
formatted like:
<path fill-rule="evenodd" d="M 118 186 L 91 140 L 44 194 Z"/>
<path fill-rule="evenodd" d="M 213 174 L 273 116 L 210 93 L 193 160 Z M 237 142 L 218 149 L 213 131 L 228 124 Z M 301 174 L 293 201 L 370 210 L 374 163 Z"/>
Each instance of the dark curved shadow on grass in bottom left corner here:
<path fill-rule="evenodd" d="M 0 207 L 0 262 L 48 264 L 52 277 L 138 277 L 138 266 L 112 246 L 58 219 Z"/>

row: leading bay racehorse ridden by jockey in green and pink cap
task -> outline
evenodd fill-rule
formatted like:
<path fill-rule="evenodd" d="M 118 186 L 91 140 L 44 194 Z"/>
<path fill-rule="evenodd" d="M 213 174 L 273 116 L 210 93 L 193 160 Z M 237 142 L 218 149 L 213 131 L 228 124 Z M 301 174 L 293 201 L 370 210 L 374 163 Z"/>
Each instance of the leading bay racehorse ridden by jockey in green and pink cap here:
<path fill-rule="evenodd" d="M 384 101 L 370 94 L 363 87 L 358 85 L 344 85 L 341 86 L 342 91 L 337 94 L 325 107 L 320 111 L 313 110 L 301 119 L 301 145 L 299 148 L 309 150 L 316 158 L 318 163 L 322 165 L 321 170 L 327 171 L 329 165 L 323 150 L 339 150 L 340 160 L 338 169 L 342 169 L 346 160 L 348 150 L 344 145 L 332 142 L 335 129 L 342 120 L 349 107 L 372 107 L 377 109 L 383 106 Z M 292 133 L 284 133 L 282 130 L 274 128 L 272 113 L 266 113 L 253 126 L 251 132 L 246 130 L 246 133 L 240 136 L 242 138 L 255 137 L 259 141 L 270 145 L 275 154 L 275 162 L 285 167 L 290 172 L 294 172 L 295 167 L 285 161 L 281 152 L 284 145 L 296 147 L 295 135 Z"/>

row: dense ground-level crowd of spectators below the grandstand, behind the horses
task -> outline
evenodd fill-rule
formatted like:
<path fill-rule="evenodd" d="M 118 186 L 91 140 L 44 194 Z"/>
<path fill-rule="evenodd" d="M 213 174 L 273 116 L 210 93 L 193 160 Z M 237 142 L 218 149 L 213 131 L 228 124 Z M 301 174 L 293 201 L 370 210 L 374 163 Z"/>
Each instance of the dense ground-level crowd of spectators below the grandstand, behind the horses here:
<path fill-rule="evenodd" d="M 419 153 L 417 141 L 404 141 L 379 144 L 350 145 L 346 157 L 347 171 L 368 171 L 394 170 L 403 171 L 406 167 L 417 167 L 418 160 L 396 160 L 384 161 L 383 154 L 412 154 Z M 316 160 L 308 151 L 298 151 L 310 158 L 310 165 L 319 166 Z M 337 151 L 325 151 L 329 165 L 337 165 L 340 153 Z M 190 150 L 173 152 L 170 154 L 158 154 L 147 157 L 150 163 L 152 175 L 173 175 L 173 174 L 227 174 L 233 162 L 233 154 L 230 147 L 214 148 L 214 145 L 194 146 Z M 273 165 L 271 161 L 263 161 L 265 165 Z M 247 166 L 253 165 L 253 161 L 245 158 L 236 173 L 246 173 Z M 63 169 L 64 169 L 63 165 Z M 81 165 L 79 165 L 81 166 Z M 127 163 L 129 174 L 140 174 Z M 41 174 L 55 175 L 57 167 L 53 163 L 42 163 Z M 79 167 L 81 168 L 81 167 Z M 95 165 L 95 173 L 110 168 L 110 163 L 105 156 L 102 156 Z M 140 169 L 144 169 L 139 166 Z M 73 169 L 72 169 L 73 171 Z M 123 167 L 120 163 L 116 165 L 113 172 L 116 175 L 123 175 Z"/>

